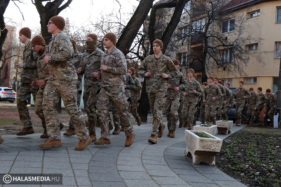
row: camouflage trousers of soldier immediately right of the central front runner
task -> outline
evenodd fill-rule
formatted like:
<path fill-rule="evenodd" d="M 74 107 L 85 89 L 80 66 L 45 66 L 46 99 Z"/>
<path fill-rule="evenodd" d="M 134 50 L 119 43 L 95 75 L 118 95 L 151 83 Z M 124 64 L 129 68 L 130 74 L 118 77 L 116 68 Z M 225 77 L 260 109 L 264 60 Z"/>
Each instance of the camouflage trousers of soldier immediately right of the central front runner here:
<path fill-rule="evenodd" d="M 165 112 L 168 121 L 168 130 L 175 131 L 177 128 L 177 120 L 178 120 L 178 109 L 180 107 L 180 98 L 176 97 L 174 99 L 167 99 L 165 104 Z"/>

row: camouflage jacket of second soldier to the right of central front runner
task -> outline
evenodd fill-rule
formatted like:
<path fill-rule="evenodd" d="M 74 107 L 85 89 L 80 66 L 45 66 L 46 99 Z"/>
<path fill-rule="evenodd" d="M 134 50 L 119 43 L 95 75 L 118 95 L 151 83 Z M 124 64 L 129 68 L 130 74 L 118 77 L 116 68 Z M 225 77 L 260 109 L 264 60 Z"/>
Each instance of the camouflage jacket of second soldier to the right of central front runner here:
<path fill-rule="evenodd" d="M 186 79 L 185 83 L 184 91 L 187 95 L 184 96 L 184 102 L 197 103 L 198 97 L 202 94 L 201 84 L 195 79 L 191 83 Z M 193 93 L 192 90 L 196 90 L 196 93 Z"/>

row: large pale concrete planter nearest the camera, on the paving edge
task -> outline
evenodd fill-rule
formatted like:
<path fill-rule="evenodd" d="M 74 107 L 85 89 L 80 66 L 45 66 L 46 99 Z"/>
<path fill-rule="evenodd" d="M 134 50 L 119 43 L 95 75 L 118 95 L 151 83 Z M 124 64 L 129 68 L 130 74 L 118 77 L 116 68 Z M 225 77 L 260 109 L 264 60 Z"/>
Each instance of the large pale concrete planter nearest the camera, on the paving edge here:
<path fill-rule="evenodd" d="M 201 138 L 193 132 L 207 134 L 212 138 Z M 222 140 L 204 131 L 185 130 L 186 156 L 192 156 L 193 164 L 205 162 L 215 165 L 215 155 L 220 152 Z"/>

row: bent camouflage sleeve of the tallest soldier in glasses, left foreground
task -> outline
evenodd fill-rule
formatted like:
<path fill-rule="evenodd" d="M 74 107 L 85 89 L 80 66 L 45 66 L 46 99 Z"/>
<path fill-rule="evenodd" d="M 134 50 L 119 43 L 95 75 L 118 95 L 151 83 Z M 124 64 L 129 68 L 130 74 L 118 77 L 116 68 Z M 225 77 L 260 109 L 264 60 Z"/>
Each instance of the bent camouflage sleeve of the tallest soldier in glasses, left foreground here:
<path fill-rule="evenodd" d="M 52 53 L 52 56 L 49 56 L 48 62 L 50 64 L 57 62 L 65 62 L 70 59 L 73 55 L 72 43 L 69 37 L 65 34 L 57 37 L 57 46 L 52 46 L 58 48 L 58 53 Z"/>

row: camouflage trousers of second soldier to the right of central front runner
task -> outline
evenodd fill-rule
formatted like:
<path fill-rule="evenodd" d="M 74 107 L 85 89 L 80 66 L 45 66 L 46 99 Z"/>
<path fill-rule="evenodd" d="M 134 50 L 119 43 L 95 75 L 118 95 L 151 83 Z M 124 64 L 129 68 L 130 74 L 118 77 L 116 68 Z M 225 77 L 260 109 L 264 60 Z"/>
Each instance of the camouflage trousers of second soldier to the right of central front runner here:
<path fill-rule="evenodd" d="M 187 128 L 191 130 L 193 121 L 194 121 L 194 116 L 196 113 L 196 103 L 189 103 L 189 102 L 184 102 L 183 106 L 183 118 L 185 120 L 185 123 L 187 124 Z"/>

